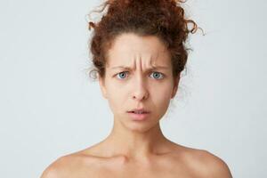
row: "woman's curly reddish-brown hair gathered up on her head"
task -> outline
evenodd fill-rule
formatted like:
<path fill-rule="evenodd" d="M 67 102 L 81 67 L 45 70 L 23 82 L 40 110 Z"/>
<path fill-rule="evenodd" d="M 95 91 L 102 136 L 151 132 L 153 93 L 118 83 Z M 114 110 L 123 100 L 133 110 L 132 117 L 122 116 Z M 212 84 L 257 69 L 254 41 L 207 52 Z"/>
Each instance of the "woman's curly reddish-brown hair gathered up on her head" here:
<path fill-rule="evenodd" d="M 198 26 L 193 20 L 185 19 L 181 0 L 107 0 L 102 12 L 108 11 L 99 22 L 89 21 L 89 30 L 94 29 L 90 43 L 93 54 L 93 70 L 105 76 L 106 53 L 115 37 L 123 33 L 138 36 L 158 36 L 171 54 L 173 76 L 180 75 L 188 59 L 185 42 L 189 33 L 194 34 Z M 193 24 L 189 28 L 188 24 Z"/>

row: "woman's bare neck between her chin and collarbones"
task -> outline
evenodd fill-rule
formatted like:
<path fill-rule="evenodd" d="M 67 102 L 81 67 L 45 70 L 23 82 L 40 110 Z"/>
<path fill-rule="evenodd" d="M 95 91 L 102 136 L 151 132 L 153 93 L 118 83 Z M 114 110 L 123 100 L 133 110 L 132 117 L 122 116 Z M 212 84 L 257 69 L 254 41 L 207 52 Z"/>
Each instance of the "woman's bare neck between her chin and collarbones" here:
<path fill-rule="evenodd" d="M 140 131 L 125 128 L 114 118 L 112 131 L 104 142 L 109 145 L 109 150 L 106 152 L 109 157 L 124 156 L 125 158 L 146 159 L 152 155 L 166 152 L 165 147 L 168 140 L 162 134 L 159 122 L 149 130 Z"/>

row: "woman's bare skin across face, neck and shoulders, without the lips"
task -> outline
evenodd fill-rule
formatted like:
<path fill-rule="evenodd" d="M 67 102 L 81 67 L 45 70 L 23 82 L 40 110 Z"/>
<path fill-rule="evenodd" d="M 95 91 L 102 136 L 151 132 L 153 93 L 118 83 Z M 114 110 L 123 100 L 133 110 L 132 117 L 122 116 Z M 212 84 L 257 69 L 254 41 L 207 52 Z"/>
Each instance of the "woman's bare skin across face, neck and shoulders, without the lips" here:
<path fill-rule="evenodd" d="M 129 69 L 113 69 L 117 66 Z M 171 142 L 162 133 L 159 120 L 177 93 L 179 78 L 172 76 L 169 53 L 157 36 L 117 36 L 100 78 L 114 114 L 111 133 L 90 148 L 58 158 L 41 178 L 231 178 L 221 158 Z M 136 108 L 150 110 L 149 117 L 134 121 L 127 111 Z"/>

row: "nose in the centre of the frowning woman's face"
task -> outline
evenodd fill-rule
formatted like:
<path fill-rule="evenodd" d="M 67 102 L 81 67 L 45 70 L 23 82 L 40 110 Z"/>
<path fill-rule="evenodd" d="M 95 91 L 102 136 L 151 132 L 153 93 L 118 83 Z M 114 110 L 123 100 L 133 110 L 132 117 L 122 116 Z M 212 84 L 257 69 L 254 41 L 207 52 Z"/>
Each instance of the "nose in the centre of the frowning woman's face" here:
<path fill-rule="evenodd" d="M 136 77 L 133 85 L 133 99 L 137 101 L 146 100 L 149 97 L 146 81 L 143 77 Z"/>

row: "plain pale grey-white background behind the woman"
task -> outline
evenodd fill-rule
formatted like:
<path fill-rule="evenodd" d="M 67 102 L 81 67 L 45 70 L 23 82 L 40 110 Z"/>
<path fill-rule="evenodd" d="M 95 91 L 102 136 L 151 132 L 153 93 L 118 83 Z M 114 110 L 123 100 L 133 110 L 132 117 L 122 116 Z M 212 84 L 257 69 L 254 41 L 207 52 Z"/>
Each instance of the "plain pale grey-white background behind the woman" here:
<path fill-rule="evenodd" d="M 0 1 L 0 177 L 39 177 L 109 134 L 108 102 L 87 75 L 85 15 L 101 2 Z M 189 0 L 185 8 L 206 36 L 190 36 L 188 72 L 163 132 L 222 158 L 234 177 L 267 177 L 267 3 Z"/>

